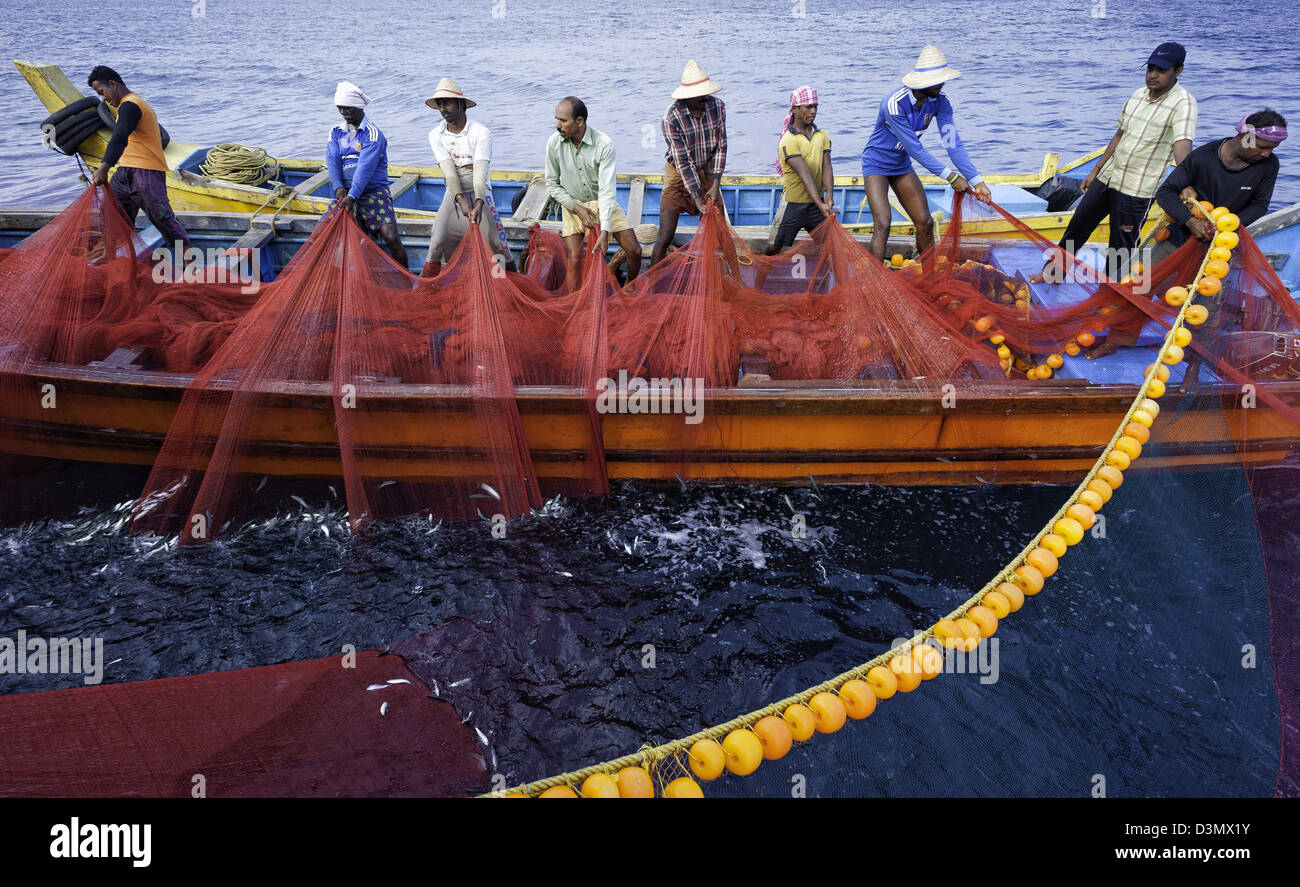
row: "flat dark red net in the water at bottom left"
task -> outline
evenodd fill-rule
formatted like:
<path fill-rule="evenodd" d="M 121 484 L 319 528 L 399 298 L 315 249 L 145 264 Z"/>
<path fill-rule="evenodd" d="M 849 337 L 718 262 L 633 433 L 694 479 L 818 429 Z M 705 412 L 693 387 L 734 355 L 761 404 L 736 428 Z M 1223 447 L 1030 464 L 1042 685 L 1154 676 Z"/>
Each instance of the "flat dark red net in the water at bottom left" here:
<path fill-rule="evenodd" d="M 354 658 L 0 697 L 12 731 L 0 796 L 464 797 L 488 787 L 473 734 L 400 657 Z"/>

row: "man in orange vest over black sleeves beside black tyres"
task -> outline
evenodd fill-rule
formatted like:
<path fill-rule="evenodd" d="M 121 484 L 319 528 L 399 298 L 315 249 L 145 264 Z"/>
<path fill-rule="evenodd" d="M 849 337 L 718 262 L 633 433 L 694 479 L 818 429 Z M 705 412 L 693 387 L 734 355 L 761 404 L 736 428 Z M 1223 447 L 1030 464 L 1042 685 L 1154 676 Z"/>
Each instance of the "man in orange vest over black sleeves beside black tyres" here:
<path fill-rule="evenodd" d="M 94 185 L 108 183 L 108 170 L 117 165 L 109 187 L 122 204 L 126 220 L 135 226 L 140 209 L 159 229 L 168 243 L 178 245 L 176 259 L 182 264 L 190 248 L 190 235 L 172 211 L 166 196 L 166 159 L 162 156 L 162 138 L 157 114 L 148 101 L 126 88 L 121 75 L 107 65 L 96 65 L 87 78 L 90 88 L 117 108 L 117 125 L 91 179 Z"/>

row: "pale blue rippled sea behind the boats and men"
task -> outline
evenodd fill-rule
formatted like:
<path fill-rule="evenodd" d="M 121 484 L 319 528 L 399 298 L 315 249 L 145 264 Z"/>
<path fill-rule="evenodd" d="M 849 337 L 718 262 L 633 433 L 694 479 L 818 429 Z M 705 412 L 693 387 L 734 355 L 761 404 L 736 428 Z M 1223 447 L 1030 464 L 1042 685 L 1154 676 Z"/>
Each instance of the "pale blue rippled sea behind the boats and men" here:
<path fill-rule="evenodd" d="M 0 38 L 13 59 L 57 64 L 87 94 L 91 68 L 114 68 L 178 140 L 289 157 L 324 156 L 339 122 L 334 86 L 348 79 L 370 96 L 390 161 L 433 165 L 428 131 L 441 118 L 424 99 L 450 75 L 478 103 L 471 114 L 491 127 L 499 169 L 541 169 L 555 104 L 577 95 L 621 170 L 662 172 L 659 118 L 696 59 L 723 85 L 733 173 L 772 172 L 788 95 L 803 83 L 819 92 L 836 170 L 855 173 L 880 99 L 933 43 L 962 72 L 945 91 L 971 156 L 1006 173 L 1105 146 L 1165 40 L 1187 47 L 1197 144 L 1265 105 L 1300 116 L 1300 47 L 1279 27 L 1294 14 L 1288 0 L 8 0 Z M 47 112 L 9 66 L 0 108 L 0 204 L 70 200 L 75 161 L 40 147 Z M 1300 200 L 1290 152 L 1278 155 L 1275 205 Z"/>

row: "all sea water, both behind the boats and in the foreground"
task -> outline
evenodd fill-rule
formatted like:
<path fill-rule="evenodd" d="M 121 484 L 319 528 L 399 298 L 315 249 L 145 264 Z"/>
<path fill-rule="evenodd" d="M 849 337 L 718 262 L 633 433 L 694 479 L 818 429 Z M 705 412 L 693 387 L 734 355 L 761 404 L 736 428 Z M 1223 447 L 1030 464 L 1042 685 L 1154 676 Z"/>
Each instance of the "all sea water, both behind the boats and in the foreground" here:
<path fill-rule="evenodd" d="M 56 62 L 78 85 L 114 66 L 178 139 L 285 156 L 322 155 L 334 83 L 351 79 L 390 160 L 432 164 L 422 99 L 452 75 L 493 127 L 495 165 L 524 169 L 541 165 L 568 94 L 615 139 L 621 169 L 660 168 L 659 116 L 694 57 L 724 85 L 728 169 L 751 173 L 771 169 L 785 94 L 805 82 L 820 91 L 837 169 L 854 170 L 876 103 L 933 42 L 963 72 L 948 92 L 976 163 L 1014 172 L 1102 146 L 1166 39 L 1188 47 L 1199 140 L 1264 105 L 1292 116 L 1300 51 L 1279 27 L 1292 10 L 10 0 L 0 35 L 13 57 Z M 46 112 L 12 69 L 0 108 L 0 204 L 70 200 L 75 164 L 40 147 Z M 1300 200 L 1300 166 L 1279 156 L 1275 205 Z M 482 730 L 510 782 L 693 732 L 874 657 L 983 585 L 1066 494 L 621 484 L 555 501 L 504 540 L 406 520 L 361 542 L 321 496 L 177 551 L 122 529 L 143 481 L 65 467 L 5 484 L 27 520 L 0 529 L 0 636 L 104 637 L 109 682 L 393 645 Z M 789 532 L 793 511 L 807 515 L 805 538 Z M 710 793 L 1086 796 L 1098 775 L 1109 795 L 1271 793 L 1279 721 L 1244 479 L 1135 475 L 1105 514 L 1106 538 L 1071 550 L 1004 622 L 993 680 L 927 682 Z M 79 683 L 0 674 L 0 693 Z"/>

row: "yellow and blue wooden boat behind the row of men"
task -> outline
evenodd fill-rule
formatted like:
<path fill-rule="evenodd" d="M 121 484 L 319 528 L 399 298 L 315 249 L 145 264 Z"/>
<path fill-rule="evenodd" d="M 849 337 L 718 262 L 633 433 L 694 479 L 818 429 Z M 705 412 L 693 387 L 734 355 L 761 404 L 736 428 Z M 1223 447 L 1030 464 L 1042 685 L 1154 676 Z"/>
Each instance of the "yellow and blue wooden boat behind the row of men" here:
<path fill-rule="evenodd" d="M 14 61 L 13 64 L 31 85 L 36 98 L 51 112 L 57 112 L 84 98 L 84 94 L 68 79 L 57 65 L 27 61 Z M 79 144 L 78 153 L 91 166 L 99 165 L 108 146 L 108 138 L 109 130 L 100 129 Z M 166 160 L 172 166 L 166 177 L 168 194 L 174 209 L 321 215 L 330 205 L 333 194 L 329 173 L 324 169 L 321 160 L 274 157 L 274 163 L 280 166 L 277 178 L 265 185 L 251 186 L 204 176 L 200 166 L 207 160 L 211 147 L 185 142 L 172 142 L 166 147 Z M 1045 238 L 1058 241 L 1070 222 L 1071 213 L 1049 212 L 1048 202 L 1034 191 L 1057 174 L 1079 177 L 1087 174 L 1100 155 L 1101 150 L 1097 150 L 1062 165 L 1060 155 L 1046 153 L 1039 168 L 1032 172 L 993 173 L 985 176 L 985 181 L 989 183 L 993 199 L 998 205 Z M 920 178 L 930 198 L 931 213 L 941 233 L 946 230 L 952 192 L 942 181 L 933 176 L 922 176 Z M 868 232 L 871 211 L 866 204 L 862 177 L 836 176 L 835 181 L 835 198 L 841 222 L 853 230 Z M 523 246 L 526 242 L 528 225 L 533 221 L 542 221 L 558 230 L 559 221 L 546 217 L 547 200 L 541 173 L 498 169 L 493 170 L 491 185 L 498 207 L 503 211 L 515 207 L 504 218 L 512 246 Z M 389 187 L 399 220 L 407 221 L 432 218 L 442 203 L 445 190 L 442 170 L 438 168 L 396 164 L 389 166 Z M 647 255 L 656 234 L 655 225 L 662 189 L 662 173 L 623 173 L 619 176 L 619 204 L 625 211 L 628 220 L 637 226 L 637 235 Z M 738 233 L 746 239 L 766 239 L 772 218 L 781 204 L 781 178 L 779 176 L 723 176 L 722 192 L 728 217 Z M 1149 224 L 1154 225 L 1154 220 Z M 965 230 L 975 237 L 1022 237 L 1022 233 L 1013 224 L 992 213 L 987 218 L 967 218 L 963 225 Z M 1109 237 L 1106 222 L 1102 222 L 1096 237 L 1105 241 Z M 693 233 L 693 226 L 682 225 L 677 229 L 677 241 L 685 242 Z M 890 235 L 909 241 L 915 235 L 915 229 L 897 203 Z M 910 243 L 907 248 L 910 248 Z"/>

